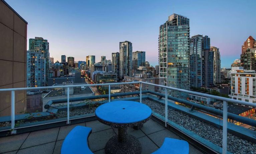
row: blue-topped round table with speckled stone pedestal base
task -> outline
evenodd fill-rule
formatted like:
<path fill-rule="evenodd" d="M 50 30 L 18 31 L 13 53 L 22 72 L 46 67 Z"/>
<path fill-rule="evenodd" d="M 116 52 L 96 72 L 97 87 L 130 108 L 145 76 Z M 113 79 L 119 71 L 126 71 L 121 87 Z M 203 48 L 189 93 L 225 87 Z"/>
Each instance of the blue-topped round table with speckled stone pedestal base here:
<path fill-rule="evenodd" d="M 100 105 L 96 118 L 103 124 L 117 127 L 118 136 L 110 138 L 105 153 L 141 153 L 139 140 L 128 134 L 128 127 L 142 125 L 151 118 L 152 110 L 145 104 L 134 101 L 113 101 Z"/>

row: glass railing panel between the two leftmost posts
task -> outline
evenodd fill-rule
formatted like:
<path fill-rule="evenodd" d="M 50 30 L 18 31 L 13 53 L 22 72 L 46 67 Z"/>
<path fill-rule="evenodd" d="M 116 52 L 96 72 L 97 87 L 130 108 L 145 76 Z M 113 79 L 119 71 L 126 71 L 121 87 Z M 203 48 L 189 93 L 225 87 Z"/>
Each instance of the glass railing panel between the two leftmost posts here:
<path fill-rule="evenodd" d="M 57 117 L 56 101 L 63 95 L 61 89 L 16 90 L 15 128 L 66 120 Z"/>

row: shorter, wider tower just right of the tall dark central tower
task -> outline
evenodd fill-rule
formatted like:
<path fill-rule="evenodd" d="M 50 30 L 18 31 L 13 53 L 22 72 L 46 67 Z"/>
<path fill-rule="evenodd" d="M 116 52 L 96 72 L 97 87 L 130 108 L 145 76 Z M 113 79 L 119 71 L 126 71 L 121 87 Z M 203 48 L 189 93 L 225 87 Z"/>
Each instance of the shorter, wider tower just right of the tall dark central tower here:
<path fill-rule="evenodd" d="M 137 70 L 146 61 L 145 51 L 135 51 L 133 52 L 133 71 Z"/>

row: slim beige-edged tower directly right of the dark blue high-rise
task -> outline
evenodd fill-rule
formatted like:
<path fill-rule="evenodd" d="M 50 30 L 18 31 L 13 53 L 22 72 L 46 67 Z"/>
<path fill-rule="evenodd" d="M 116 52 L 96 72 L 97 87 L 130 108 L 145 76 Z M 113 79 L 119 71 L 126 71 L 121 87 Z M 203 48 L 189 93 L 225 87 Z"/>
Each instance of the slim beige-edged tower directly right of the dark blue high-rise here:
<path fill-rule="evenodd" d="M 213 83 L 221 83 L 221 60 L 220 60 L 220 51 L 217 47 L 211 47 L 211 50 L 214 53 L 213 58 Z"/>

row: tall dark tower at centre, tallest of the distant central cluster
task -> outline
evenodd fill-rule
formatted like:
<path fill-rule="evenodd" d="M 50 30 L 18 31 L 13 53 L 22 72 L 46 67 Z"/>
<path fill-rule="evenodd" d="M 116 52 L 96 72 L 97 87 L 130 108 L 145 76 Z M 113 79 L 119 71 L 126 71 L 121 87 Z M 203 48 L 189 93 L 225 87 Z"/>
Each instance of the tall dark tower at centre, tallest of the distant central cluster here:
<path fill-rule="evenodd" d="M 120 53 L 120 79 L 124 76 L 132 75 L 133 68 L 133 46 L 129 41 L 124 41 L 119 43 L 119 53 Z"/>

